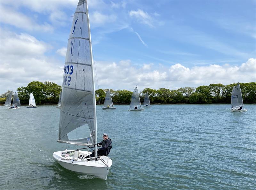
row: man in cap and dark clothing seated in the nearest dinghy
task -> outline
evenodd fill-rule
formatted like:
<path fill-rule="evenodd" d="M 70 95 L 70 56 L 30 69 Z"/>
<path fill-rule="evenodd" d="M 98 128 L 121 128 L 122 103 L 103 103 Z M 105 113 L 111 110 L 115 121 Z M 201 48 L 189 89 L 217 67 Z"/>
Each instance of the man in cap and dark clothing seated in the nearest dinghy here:
<path fill-rule="evenodd" d="M 97 145 L 99 147 L 101 146 L 101 148 L 98 148 L 98 156 L 108 156 L 110 149 L 112 148 L 112 140 L 108 138 L 107 133 L 103 133 L 103 141 L 101 141 Z M 85 158 L 90 158 L 94 156 L 95 156 L 95 152 L 93 150 L 92 154 L 90 154 L 89 156 L 86 156 Z"/>

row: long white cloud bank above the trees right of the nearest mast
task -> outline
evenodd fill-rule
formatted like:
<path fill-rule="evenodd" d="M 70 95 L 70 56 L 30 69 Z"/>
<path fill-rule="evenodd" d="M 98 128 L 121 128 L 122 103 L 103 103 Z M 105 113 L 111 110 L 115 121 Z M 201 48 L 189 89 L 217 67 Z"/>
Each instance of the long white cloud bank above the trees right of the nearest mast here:
<path fill-rule="evenodd" d="M 143 90 L 146 87 L 177 89 L 177 87 L 198 87 L 217 83 L 228 85 L 237 82 L 256 82 L 256 59 L 254 58 L 248 59 L 240 66 L 215 64 L 188 68 L 178 63 L 171 65 L 169 69 L 160 65 L 152 70 L 152 65 L 144 64 L 141 67 L 135 67 L 130 60 L 119 63 L 96 61 L 98 83 L 100 88 L 132 91 L 136 85 Z"/>

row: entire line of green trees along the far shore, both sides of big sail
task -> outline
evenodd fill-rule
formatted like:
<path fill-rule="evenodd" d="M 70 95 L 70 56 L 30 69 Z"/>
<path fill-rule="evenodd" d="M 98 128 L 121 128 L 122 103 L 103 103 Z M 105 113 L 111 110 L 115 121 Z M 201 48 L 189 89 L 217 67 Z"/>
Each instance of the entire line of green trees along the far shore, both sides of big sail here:
<path fill-rule="evenodd" d="M 209 86 L 181 87 L 177 90 L 144 88 L 140 92 L 140 101 L 148 92 L 150 103 L 231 103 L 231 92 L 237 84 L 210 84 Z M 244 103 L 256 103 L 256 82 L 240 83 Z M 61 86 L 52 82 L 33 81 L 27 87 L 17 89 L 21 104 L 28 104 L 30 92 L 36 104 L 57 104 Z M 104 104 L 108 89 L 96 90 L 97 104 Z M 4 103 L 10 92 L 0 95 L 0 103 Z M 114 104 L 130 104 L 132 92 L 128 90 L 110 89 Z"/>

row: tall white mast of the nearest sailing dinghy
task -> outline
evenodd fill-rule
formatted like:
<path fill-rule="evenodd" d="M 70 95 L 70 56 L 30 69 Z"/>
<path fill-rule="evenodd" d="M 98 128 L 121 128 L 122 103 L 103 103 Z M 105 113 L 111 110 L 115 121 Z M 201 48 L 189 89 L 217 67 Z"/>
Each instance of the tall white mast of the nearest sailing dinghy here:
<path fill-rule="evenodd" d="M 90 22 L 89 22 L 89 14 L 88 14 L 88 4 L 86 2 L 86 15 L 88 20 L 88 30 L 89 30 L 89 43 L 90 43 L 90 53 L 91 53 L 91 67 L 92 67 L 92 95 L 93 95 L 93 108 L 94 108 L 94 128 L 95 128 L 95 160 L 98 160 L 98 142 L 97 142 L 97 115 L 96 115 L 96 97 L 95 97 L 95 86 L 94 86 L 94 70 L 93 70 L 93 57 L 92 57 L 92 40 L 91 40 L 91 30 L 90 30 Z"/>

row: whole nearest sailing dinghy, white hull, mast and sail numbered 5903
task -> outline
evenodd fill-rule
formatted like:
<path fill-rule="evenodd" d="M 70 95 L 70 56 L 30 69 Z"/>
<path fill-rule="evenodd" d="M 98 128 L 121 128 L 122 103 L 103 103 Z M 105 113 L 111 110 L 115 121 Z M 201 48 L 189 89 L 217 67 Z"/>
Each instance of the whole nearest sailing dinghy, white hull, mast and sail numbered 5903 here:
<path fill-rule="evenodd" d="M 88 151 L 65 149 L 52 156 L 70 171 L 107 179 L 112 160 L 97 156 L 96 116 L 88 6 L 86 0 L 79 0 L 68 39 L 58 142 L 86 146 Z M 95 157 L 86 161 L 83 157 L 91 154 L 89 148 L 95 148 Z"/>

